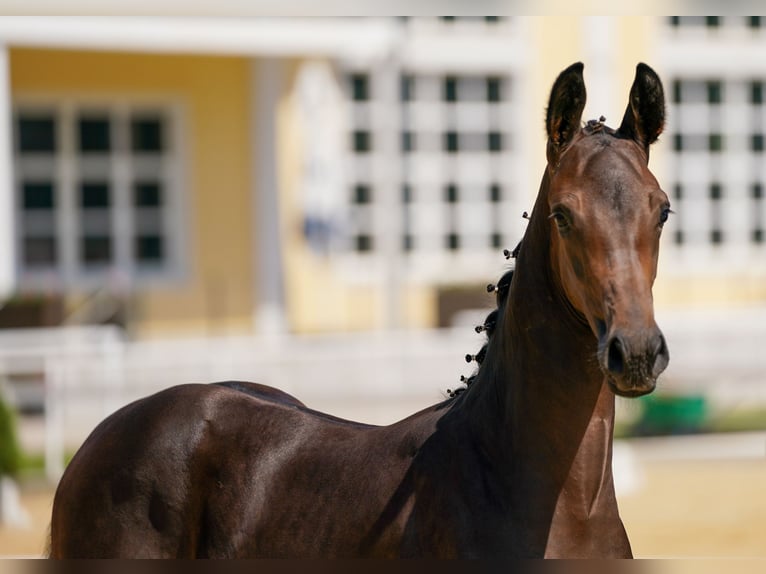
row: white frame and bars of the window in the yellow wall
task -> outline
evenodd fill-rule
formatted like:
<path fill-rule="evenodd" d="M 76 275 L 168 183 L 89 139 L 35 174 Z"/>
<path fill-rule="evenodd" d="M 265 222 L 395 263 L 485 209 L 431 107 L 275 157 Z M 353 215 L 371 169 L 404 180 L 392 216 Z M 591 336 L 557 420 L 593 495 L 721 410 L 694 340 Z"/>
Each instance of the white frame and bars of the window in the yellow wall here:
<path fill-rule="evenodd" d="M 53 154 L 53 181 L 56 187 L 54 217 L 57 231 L 58 261 L 52 269 L 30 269 L 23 262 L 23 206 L 19 201 L 20 184 L 24 170 L 20 168 L 20 152 L 16 146 L 19 112 L 46 112 L 54 115 L 56 149 Z M 87 269 L 78 259 L 80 230 L 77 224 L 77 182 L 79 151 L 75 134 L 76 118 L 88 112 L 107 113 L 110 119 L 127 120 L 141 112 L 159 111 L 167 118 L 165 149 L 162 151 L 162 236 L 164 238 L 163 262 L 157 268 L 137 266 L 133 257 L 135 240 L 133 174 L 130 149 L 113 149 L 109 166 L 111 200 L 111 224 L 113 237 L 112 261 L 103 268 Z M 167 286 L 183 282 L 188 274 L 189 190 L 184 162 L 186 150 L 186 110 L 177 97 L 165 95 L 131 94 L 75 94 L 45 95 L 16 93 L 12 101 L 14 215 L 16 226 L 15 269 L 19 289 L 24 292 L 63 292 L 66 290 L 95 290 L 110 287 L 115 290 L 133 291 Z M 113 124 L 111 124 L 113 125 Z M 129 124 L 125 124 L 129 125 Z M 114 136 L 113 136 L 114 137 Z M 31 159 L 31 158 L 30 158 Z M 30 161 L 30 160 L 27 160 Z M 31 160 L 33 161 L 33 160 Z"/>

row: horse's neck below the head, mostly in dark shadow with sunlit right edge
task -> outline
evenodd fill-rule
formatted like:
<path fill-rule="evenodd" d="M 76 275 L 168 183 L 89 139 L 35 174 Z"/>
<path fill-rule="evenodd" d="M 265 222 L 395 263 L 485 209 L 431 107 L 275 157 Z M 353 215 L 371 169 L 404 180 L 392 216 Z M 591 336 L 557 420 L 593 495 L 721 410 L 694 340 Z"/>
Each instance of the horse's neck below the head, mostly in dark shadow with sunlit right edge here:
<path fill-rule="evenodd" d="M 547 192 L 544 177 L 501 323 L 465 410 L 511 481 L 512 505 L 535 506 L 542 520 L 553 521 L 560 495 L 574 498 L 583 517 L 613 501 L 614 395 L 603 384 L 592 332 L 567 306 L 551 271 Z"/>

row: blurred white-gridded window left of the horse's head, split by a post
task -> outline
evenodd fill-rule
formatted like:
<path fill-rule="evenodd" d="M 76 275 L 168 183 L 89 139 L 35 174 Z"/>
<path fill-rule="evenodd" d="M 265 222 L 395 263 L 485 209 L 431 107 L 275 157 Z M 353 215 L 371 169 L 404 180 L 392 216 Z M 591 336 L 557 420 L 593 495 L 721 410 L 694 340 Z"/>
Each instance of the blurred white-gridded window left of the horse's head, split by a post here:
<path fill-rule="evenodd" d="M 477 19 L 472 22 L 476 24 L 488 23 Z M 362 82 L 362 77 L 367 73 L 349 70 L 345 81 L 353 174 L 345 245 L 351 253 L 369 257 L 390 243 L 379 241 L 386 232 L 386 213 L 380 207 L 385 197 L 382 190 L 371 191 L 379 153 L 370 114 L 376 93 L 373 83 Z M 521 237 L 523 222 L 518 230 L 509 229 L 508 222 L 508 207 L 518 201 L 508 170 L 513 157 L 511 85 L 505 72 L 403 70 L 398 85 L 402 216 L 397 244 L 407 257 L 442 254 L 453 260 L 489 254 L 505 247 L 509 238 Z"/>

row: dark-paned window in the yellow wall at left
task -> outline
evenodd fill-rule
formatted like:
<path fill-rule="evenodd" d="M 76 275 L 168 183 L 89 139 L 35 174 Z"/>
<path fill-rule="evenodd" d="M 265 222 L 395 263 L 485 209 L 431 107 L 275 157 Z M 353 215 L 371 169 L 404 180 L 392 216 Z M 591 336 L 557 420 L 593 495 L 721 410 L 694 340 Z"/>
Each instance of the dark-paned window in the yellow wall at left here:
<path fill-rule="evenodd" d="M 84 284 L 115 269 L 139 278 L 178 271 L 174 118 L 164 105 L 15 104 L 22 281 L 49 284 L 53 273 Z"/>

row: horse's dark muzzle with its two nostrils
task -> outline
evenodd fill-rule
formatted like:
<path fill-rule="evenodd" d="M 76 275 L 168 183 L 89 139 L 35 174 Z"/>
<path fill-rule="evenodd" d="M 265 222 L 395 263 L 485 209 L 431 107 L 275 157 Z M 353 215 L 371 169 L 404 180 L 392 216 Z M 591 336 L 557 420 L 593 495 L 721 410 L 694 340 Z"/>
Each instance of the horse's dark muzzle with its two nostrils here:
<path fill-rule="evenodd" d="M 640 397 L 651 393 L 670 361 L 665 337 L 658 327 L 643 333 L 615 330 L 599 340 L 598 360 L 616 395 Z"/>

